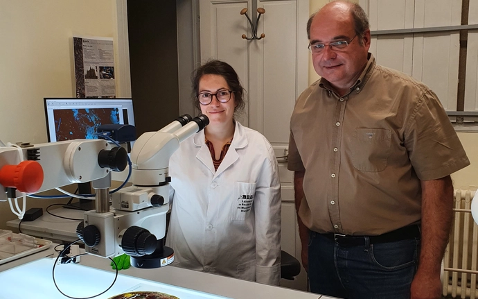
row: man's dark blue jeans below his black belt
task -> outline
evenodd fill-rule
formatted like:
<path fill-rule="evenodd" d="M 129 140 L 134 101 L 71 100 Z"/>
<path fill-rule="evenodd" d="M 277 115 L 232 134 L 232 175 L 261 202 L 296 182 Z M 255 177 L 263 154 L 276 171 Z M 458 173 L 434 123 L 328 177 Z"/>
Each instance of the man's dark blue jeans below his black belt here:
<path fill-rule="evenodd" d="M 339 246 L 317 232 L 309 239 L 309 282 L 313 293 L 346 299 L 409 299 L 420 239 Z"/>

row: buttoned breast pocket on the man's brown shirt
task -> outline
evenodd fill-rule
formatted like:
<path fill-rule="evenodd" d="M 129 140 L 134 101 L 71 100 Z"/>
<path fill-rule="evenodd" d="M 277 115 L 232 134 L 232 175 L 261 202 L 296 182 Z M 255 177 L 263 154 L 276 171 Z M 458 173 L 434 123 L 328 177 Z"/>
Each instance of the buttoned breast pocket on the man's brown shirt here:
<path fill-rule="evenodd" d="M 383 171 L 390 155 L 391 131 L 357 128 L 353 139 L 353 166 L 367 172 Z"/>

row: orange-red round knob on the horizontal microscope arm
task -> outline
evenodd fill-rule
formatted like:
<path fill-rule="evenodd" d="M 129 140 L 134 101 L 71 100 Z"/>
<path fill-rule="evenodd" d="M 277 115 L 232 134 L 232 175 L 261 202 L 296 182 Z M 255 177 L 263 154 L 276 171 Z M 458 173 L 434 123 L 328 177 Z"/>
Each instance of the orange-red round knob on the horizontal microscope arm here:
<path fill-rule="evenodd" d="M 5 165 L 0 169 L 0 184 L 3 187 L 15 187 L 20 192 L 36 192 L 43 184 L 42 165 L 36 161 Z"/>

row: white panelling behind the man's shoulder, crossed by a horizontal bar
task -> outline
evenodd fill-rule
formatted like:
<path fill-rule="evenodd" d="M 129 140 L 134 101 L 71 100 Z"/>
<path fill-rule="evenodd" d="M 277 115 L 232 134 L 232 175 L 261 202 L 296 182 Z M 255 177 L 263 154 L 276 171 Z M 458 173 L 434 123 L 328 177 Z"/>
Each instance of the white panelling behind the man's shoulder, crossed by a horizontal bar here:
<path fill-rule="evenodd" d="M 461 24 L 461 0 L 360 0 L 371 31 L 436 28 Z M 470 1 L 471 2 L 471 1 Z M 457 110 L 459 32 L 429 31 L 373 35 L 371 53 L 378 64 L 423 81 L 445 110 Z"/>

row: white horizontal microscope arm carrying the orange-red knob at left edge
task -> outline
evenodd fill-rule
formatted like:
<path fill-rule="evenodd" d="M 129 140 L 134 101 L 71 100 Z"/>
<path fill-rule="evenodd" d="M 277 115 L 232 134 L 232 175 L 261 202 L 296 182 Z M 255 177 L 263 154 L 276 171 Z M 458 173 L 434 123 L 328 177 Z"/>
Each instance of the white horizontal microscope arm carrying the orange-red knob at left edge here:
<path fill-rule="evenodd" d="M 78 182 L 90 182 L 105 178 L 112 171 L 107 165 L 108 155 L 116 152 L 116 146 L 98 139 L 75 139 L 64 142 L 51 142 L 15 147 L 0 148 L 0 199 L 3 199 L 6 188 L 15 188 L 16 193 L 11 198 L 26 194 L 55 189 Z M 126 157 L 125 153 L 123 153 Z M 21 162 L 33 162 L 39 165 L 35 169 L 18 171 Z M 103 162 L 102 162 L 103 161 Z M 125 168 L 126 161 L 121 161 Z M 42 176 L 34 176 L 42 173 Z M 18 184 L 19 176 L 35 187 L 22 187 Z"/>

